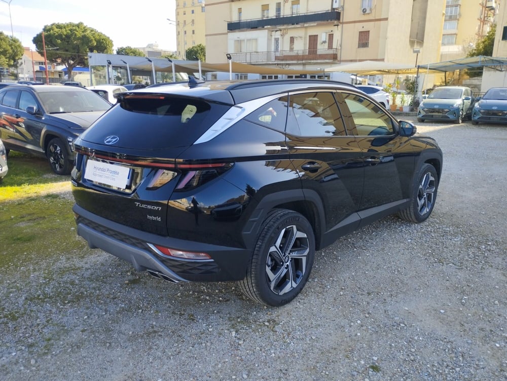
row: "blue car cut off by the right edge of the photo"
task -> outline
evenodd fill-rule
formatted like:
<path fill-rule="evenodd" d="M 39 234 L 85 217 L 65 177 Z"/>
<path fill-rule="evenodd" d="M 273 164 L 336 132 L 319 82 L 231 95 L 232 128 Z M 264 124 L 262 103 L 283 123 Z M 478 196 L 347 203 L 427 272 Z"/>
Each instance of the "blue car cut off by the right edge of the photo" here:
<path fill-rule="evenodd" d="M 472 111 L 472 124 L 507 124 L 507 87 L 493 87 L 477 100 Z"/>

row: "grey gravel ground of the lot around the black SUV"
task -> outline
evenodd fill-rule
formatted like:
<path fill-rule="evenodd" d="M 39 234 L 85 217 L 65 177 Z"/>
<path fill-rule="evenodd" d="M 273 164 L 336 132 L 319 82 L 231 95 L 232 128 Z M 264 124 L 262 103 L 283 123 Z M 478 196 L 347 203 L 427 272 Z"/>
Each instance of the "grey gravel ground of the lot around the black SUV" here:
<path fill-rule="evenodd" d="M 234 283 L 162 282 L 98 250 L 11 266 L 0 379 L 507 379 L 507 128 L 418 130 L 444 151 L 432 216 L 388 217 L 319 251 L 282 308 Z"/>

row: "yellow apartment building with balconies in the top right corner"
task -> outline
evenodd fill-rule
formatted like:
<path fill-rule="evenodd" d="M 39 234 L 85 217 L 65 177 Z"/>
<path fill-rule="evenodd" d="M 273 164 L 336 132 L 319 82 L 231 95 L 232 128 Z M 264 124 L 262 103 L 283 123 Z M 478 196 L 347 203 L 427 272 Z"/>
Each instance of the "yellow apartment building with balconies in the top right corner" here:
<path fill-rule="evenodd" d="M 499 3 L 500 0 L 446 0 L 438 61 L 465 57 L 494 23 Z"/>

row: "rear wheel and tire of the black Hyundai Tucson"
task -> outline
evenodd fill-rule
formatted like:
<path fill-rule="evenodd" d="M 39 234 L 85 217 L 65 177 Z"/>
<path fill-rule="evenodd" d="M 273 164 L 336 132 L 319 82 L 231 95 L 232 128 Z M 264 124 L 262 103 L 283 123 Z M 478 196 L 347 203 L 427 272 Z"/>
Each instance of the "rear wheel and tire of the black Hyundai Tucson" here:
<path fill-rule="evenodd" d="M 308 220 L 292 210 L 276 209 L 262 224 L 239 287 L 255 301 L 283 306 L 305 286 L 314 257 L 315 238 Z"/>

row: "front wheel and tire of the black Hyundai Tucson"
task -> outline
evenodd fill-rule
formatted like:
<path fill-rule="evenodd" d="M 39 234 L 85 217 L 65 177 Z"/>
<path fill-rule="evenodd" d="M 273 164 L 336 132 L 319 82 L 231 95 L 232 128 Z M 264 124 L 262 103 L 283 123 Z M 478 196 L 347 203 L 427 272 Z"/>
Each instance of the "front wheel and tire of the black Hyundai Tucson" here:
<path fill-rule="evenodd" d="M 398 213 L 399 217 L 410 222 L 423 222 L 431 214 L 439 185 L 436 169 L 424 163 L 415 177 L 410 206 Z"/>

